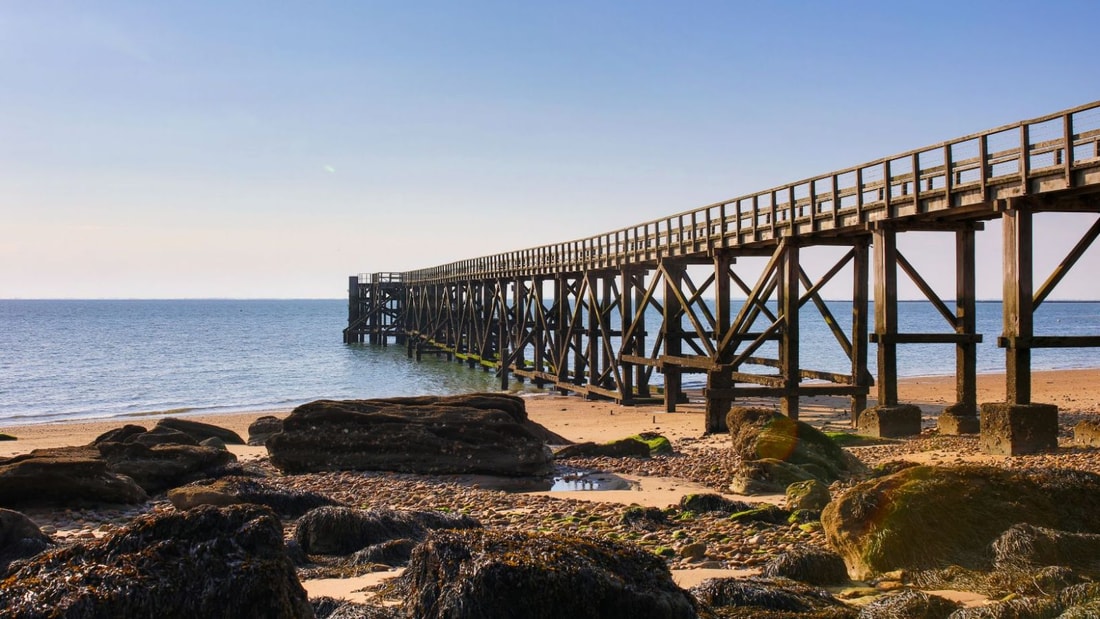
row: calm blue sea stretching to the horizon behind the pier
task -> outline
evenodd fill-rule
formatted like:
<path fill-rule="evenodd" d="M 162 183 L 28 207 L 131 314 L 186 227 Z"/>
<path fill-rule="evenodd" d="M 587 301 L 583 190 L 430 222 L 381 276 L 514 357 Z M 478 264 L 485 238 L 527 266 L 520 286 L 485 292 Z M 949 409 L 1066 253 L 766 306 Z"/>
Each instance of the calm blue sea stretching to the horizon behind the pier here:
<path fill-rule="evenodd" d="M 739 307 L 739 306 L 735 306 Z M 831 301 L 837 322 L 851 302 Z M 901 302 L 899 331 L 949 332 L 926 301 Z M 0 430 L 4 425 L 234 411 L 287 410 L 321 398 L 498 390 L 492 372 L 405 347 L 344 344 L 348 302 L 332 300 L 0 300 Z M 800 314 L 803 366 L 849 367 L 817 311 Z M 978 371 L 1003 372 L 1001 303 L 979 302 Z M 1046 301 L 1036 334 L 1100 334 L 1100 302 Z M 647 317 L 656 339 L 659 317 Z M 685 323 L 685 327 L 686 323 Z M 766 346 L 758 354 L 774 354 Z M 875 346 L 869 362 L 875 366 Z M 899 346 L 902 376 L 949 375 L 954 346 Z M 1033 352 L 1033 368 L 1100 367 L 1098 349 Z M 659 385 L 660 376 L 652 384 Z M 684 386 L 701 387 L 689 375 Z M 513 380 L 513 388 L 537 393 Z"/>

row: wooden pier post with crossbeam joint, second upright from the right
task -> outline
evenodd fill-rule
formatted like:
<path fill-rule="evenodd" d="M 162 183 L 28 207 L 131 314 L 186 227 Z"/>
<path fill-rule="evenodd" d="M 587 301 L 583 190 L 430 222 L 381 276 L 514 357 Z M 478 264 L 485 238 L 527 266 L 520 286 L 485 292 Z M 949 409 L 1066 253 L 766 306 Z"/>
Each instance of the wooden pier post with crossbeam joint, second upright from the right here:
<path fill-rule="evenodd" d="M 978 330 L 975 299 L 975 229 L 955 233 L 955 332 L 974 335 Z M 978 343 L 955 345 L 955 395 L 959 412 L 978 413 Z"/>

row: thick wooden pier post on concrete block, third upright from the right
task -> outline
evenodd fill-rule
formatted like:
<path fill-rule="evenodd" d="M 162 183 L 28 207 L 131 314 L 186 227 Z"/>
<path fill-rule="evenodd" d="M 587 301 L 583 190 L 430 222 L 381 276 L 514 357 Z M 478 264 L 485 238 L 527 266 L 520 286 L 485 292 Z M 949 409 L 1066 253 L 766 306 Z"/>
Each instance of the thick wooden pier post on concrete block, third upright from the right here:
<path fill-rule="evenodd" d="M 888 188 L 889 189 L 889 188 Z M 890 226 L 871 231 L 875 244 L 875 334 L 878 342 L 879 406 L 898 405 L 898 234 Z"/>

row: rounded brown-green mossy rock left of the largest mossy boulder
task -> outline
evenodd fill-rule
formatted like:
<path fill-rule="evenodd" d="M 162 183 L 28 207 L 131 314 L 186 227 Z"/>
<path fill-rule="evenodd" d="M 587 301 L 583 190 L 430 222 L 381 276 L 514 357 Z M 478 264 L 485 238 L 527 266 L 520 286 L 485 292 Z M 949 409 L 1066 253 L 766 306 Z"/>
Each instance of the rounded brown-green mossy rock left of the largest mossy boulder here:
<path fill-rule="evenodd" d="M 726 416 L 740 458 L 730 482 L 739 494 L 783 493 L 796 482 L 831 484 L 858 463 L 809 423 L 762 408 L 735 407 Z"/>

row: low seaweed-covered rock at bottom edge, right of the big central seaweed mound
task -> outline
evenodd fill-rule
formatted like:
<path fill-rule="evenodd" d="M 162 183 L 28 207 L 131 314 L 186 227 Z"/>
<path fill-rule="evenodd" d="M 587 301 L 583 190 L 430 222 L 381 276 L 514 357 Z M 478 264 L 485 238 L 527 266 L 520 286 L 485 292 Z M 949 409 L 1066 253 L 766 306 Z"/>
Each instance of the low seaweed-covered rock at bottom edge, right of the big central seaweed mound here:
<path fill-rule="evenodd" d="M 692 587 L 691 594 L 705 609 L 740 611 L 738 615 L 723 614 L 722 617 L 815 614 L 815 617 L 854 619 L 857 615 L 855 609 L 828 592 L 785 578 L 710 578 Z"/>

